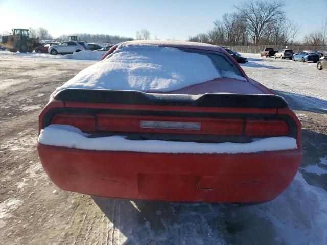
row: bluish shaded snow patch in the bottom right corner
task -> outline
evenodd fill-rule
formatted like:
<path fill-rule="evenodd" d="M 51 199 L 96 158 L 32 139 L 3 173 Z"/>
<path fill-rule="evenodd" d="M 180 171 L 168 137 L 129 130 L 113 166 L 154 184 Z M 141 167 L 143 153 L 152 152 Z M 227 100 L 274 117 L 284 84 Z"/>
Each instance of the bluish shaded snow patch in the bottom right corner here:
<path fill-rule="evenodd" d="M 275 200 L 253 207 L 272 222 L 286 244 L 327 244 L 327 192 L 308 185 L 300 173 Z"/>

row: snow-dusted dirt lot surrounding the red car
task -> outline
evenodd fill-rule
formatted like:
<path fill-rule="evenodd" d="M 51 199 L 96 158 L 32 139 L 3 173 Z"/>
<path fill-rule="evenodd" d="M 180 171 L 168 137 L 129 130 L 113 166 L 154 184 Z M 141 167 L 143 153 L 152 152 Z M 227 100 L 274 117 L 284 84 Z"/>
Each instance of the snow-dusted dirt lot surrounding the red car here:
<path fill-rule="evenodd" d="M 284 96 L 298 114 L 304 156 L 300 173 L 281 197 L 236 207 L 99 198 L 58 189 L 36 152 L 38 113 L 56 87 L 95 62 L 0 52 L 0 243 L 323 244 L 327 220 L 319 202 L 327 191 L 327 70 L 251 57 L 243 65 L 247 74 Z"/>

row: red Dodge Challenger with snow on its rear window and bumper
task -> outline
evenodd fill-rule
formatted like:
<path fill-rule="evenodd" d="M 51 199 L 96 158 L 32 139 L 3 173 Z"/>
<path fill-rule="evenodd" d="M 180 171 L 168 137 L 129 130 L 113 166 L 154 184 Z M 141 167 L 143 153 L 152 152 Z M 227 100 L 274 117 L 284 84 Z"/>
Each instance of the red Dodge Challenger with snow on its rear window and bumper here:
<path fill-rule="evenodd" d="M 37 150 L 68 191 L 264 202 L 296 174 L 301 125 L 223 48 L 130 41 L 56 89 L 39 115 Z"/>

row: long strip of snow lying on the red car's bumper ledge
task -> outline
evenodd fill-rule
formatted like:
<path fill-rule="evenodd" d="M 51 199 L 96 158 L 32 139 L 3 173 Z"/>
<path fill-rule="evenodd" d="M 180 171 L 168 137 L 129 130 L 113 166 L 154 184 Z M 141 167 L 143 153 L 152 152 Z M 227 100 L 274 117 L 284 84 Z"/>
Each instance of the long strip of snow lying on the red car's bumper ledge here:
<path fill-rule="evenodd" d="M 250 143 L 197 143 L 164 140 L 128 140 L 124 136 L 87 138 L 78 128 L 52 124 L 41 130 L 41 144 L 85 150 L 133 151 L 155 153 L 250 153 L 296 149 L 296 139 L 270 137 Z"/>

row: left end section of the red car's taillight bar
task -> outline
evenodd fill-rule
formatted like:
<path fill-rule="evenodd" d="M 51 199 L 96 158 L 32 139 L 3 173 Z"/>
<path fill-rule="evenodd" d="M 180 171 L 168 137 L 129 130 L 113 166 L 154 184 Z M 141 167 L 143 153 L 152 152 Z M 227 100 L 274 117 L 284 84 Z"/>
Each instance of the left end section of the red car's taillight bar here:
<path fill-rule="evenodd" d="M 52 118 L 51 124 L 66 124 L 79 128 L 82 131 L 96 131 L 95 117 L 89 115 L 57 114 Z"/>

